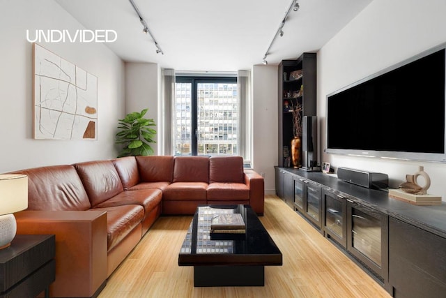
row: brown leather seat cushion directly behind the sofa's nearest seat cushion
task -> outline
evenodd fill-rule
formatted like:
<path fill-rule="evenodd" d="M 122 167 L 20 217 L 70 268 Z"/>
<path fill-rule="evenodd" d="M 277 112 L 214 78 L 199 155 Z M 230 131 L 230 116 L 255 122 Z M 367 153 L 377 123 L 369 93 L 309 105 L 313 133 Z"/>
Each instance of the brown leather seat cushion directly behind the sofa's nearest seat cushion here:
<path fill-rule="evenodd" d="M 118 193 L 113 198 L 97 204 L 95 207 L 116 207 L 128 204 L 140 205 L 144 208 L 144 218 L 151 213 L 158 204 L 160 204 L 162 198 L 162 191 L 157 188 L 141 189 L 139 191 L 123 191 Z"/>

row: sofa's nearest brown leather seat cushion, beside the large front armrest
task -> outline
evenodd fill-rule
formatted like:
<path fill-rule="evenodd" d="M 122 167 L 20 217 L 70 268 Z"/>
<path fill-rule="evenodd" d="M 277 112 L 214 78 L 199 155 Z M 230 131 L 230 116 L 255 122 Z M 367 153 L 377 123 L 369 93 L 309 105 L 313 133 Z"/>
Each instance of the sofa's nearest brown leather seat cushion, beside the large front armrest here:
<path fill-rule="evenodd" d="M 140 205 L 94 208 L 91 210 L 107 211 L 107 251 L 119 244 L 144 218 L 144 209 Z"/>

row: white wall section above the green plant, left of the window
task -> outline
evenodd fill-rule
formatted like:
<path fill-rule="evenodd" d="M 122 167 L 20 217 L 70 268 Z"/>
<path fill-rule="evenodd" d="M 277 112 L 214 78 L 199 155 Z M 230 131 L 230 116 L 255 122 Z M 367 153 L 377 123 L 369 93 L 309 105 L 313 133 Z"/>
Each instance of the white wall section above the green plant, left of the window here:
<path fill-rule="evenodd" d="M 141 112 L 148 108 L 145 118 L 153 119 L 157 126 L 153 128 L 157 131 L 157 143 L 161 137 L 158 126 L 158 79 L 160 68 L 153 63 L 125 63 L 125 113 Z M 151 144 L 157 155 L 157 144 Z"/>

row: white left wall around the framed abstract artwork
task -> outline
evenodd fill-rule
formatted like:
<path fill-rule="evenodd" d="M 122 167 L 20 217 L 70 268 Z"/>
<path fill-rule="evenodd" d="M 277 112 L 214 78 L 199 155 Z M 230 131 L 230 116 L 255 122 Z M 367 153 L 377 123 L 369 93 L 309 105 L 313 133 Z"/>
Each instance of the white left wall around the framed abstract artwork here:
<path fill-rule="evenodd" d="M 26 29 L 84 29 L 52 0 L 0 0 L 0 172 L 116 157 L 124 64 L 100 43 L 39 43 L 98 77 L 98 140 L 33 140 L 32 44 Z"/>

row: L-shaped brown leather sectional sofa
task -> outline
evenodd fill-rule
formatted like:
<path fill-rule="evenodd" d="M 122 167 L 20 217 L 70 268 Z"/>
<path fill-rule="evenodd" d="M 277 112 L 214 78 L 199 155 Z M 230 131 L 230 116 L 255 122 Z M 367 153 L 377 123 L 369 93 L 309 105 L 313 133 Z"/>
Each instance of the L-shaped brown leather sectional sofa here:
<path fill-rule="evenodd" d="M 15 173 L 29 177 L 17 234 L 56 234 L 51 297 L 97 296 L 162 214 L 250 204 L 263 215 L 263 177 L 240 156 L 131 156 Z"/>

